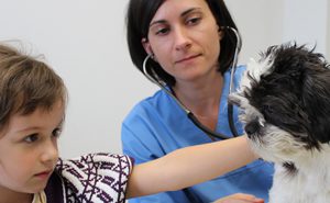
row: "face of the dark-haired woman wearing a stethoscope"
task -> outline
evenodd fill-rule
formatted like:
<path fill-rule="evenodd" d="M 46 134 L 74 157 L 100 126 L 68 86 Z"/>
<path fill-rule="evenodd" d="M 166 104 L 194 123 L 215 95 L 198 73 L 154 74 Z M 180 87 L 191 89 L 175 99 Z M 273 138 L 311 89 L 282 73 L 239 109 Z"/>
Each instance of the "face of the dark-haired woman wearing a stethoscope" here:
<path fill-rule="evenodd" d="M 142 43 L 177 82 L 190 81 L 217 72 L 222 36 L 219 30 L 205 0 L 166 0 Z"/>

